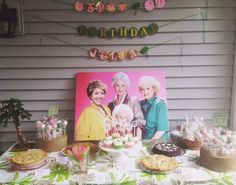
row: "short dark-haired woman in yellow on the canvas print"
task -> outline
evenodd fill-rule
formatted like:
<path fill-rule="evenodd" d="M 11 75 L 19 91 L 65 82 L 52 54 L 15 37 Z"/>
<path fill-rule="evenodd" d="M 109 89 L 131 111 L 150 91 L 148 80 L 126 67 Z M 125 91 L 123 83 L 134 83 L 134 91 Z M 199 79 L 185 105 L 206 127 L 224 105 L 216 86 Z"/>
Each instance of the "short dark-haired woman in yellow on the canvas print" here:
<path fill-rule="evenodd" d="M 105 126 L 111 121 L 110 109 L 103 105 L 107 86 L 100 80 L 93 80 L 88 84 L 87 95 L 91 105 L 81 113 L 77 122 L 75 140 L 102 140 Z"/>

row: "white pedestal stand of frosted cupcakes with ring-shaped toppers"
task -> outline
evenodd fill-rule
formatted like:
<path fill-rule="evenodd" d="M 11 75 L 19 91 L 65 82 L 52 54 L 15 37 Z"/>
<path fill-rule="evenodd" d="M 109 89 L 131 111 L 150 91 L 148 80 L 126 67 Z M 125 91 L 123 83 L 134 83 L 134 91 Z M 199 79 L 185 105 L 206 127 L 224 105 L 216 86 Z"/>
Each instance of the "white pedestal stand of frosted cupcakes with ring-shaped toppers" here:
<path fill-rule="evenodd" d="M 128 158 L 130 152 L 136 152 L 142 146 L 140 138 L 132 133 L 138 125 L 136 121 L 131 122 L 132 119 L 113 117 L 111 122 L 106 122 L 106 137 L 99 142 L 99 147 L 108 152 L 112 159 L 123 167 L 130 166 Z"/>

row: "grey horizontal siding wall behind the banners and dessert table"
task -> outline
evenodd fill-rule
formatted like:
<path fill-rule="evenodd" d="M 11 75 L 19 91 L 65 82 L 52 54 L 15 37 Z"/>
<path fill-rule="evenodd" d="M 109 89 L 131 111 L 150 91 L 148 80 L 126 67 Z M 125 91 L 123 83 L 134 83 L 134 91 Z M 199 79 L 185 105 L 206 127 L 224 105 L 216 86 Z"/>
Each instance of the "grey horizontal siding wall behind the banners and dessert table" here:
<path fill-rule="evenodd" d="M 68 129 L 73 136 L 75 74 L 79 71 L 163 69 L 171 123 L 183 121 L 185 114 L 203 116 L 207 123 L 214 112 L 230 114 L 236 1 L 166 2 L 164 9 L 150 13 L 141 8 L 136 13 L 98 15 L 77 13 L 70 1 L 24 0 L 25 35 L 0 39 L 0 100 L 19 98 L 31 111 L 32 120 L 22 124 L 27 139 L 35 139 L 34 123 L 47 115 L 50 104 L 59 104 L 60 115 L 70 118 Z M 159 25 L 159 33 L 134 39 L 81 37 L 75 29 L 81 24 L 139 28 L 151 23 Z M 172 41 L 165 43 L 168 40 Z M 160 43 L 165 44 L 157 46 Z M 148 58 L 113 63 L 91 60 L 80 49 L 119 51 L 152 45 Z M 12 124 L 0 128 L 0 152 L 16 140 Z"/>

